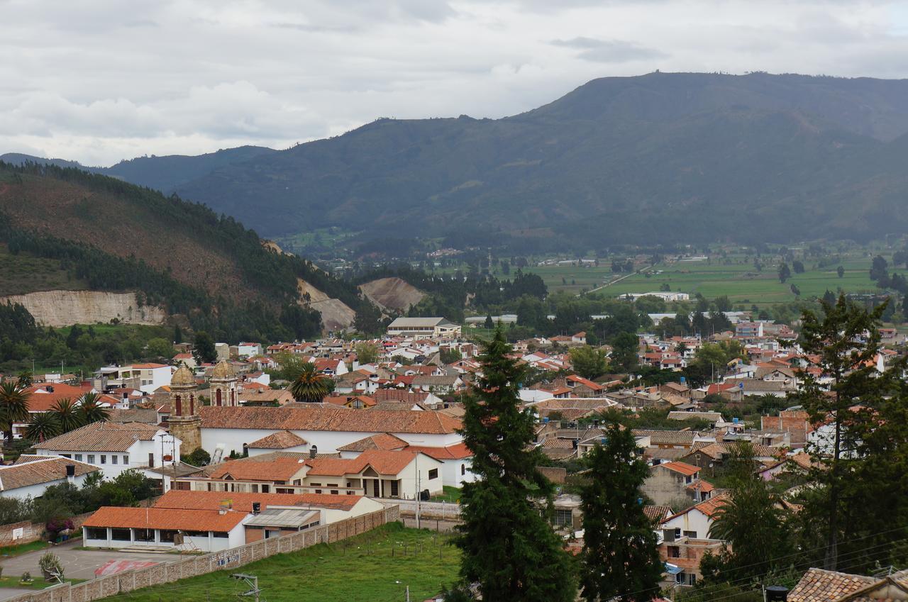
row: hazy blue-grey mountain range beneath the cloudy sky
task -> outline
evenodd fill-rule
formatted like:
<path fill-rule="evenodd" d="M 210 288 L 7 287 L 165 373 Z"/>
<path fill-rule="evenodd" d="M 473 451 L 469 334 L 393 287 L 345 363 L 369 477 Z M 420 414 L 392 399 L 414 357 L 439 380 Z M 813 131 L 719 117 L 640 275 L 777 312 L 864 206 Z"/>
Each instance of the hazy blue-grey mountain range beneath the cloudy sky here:
<path fill-rule="evenodd" d="M 270 237 L 339 226 L 598 249 L 901 232 L 906 163 L 908 80 L 653 73 L 502 119 L 380 119 L 282 151 L 95 171 Z"/>

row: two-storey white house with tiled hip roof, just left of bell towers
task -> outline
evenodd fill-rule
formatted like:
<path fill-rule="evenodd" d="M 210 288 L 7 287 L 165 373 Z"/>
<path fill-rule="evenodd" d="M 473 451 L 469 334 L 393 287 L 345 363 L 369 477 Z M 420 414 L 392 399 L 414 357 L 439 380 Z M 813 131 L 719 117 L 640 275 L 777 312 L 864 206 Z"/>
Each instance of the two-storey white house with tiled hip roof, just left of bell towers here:
<path fill-rule="evenodd" d="M 142 422 L 92 422 L 35 445 L 41 456 L 62 456 L 84 462 L 114 479 L 123 470 L 179 463 L 181 440 Z"/>

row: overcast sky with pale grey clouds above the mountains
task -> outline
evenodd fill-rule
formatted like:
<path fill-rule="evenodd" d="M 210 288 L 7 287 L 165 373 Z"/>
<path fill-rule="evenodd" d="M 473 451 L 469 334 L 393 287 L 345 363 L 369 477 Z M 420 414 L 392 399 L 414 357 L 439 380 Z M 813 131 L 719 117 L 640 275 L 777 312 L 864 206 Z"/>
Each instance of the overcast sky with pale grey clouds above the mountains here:
<path fill-rule="evenodd" d="M 0 15 L 0 153 L 94 165 L 500 117 L 656 69 L 908 77 L 904 2 L 0 0 Z"/>

